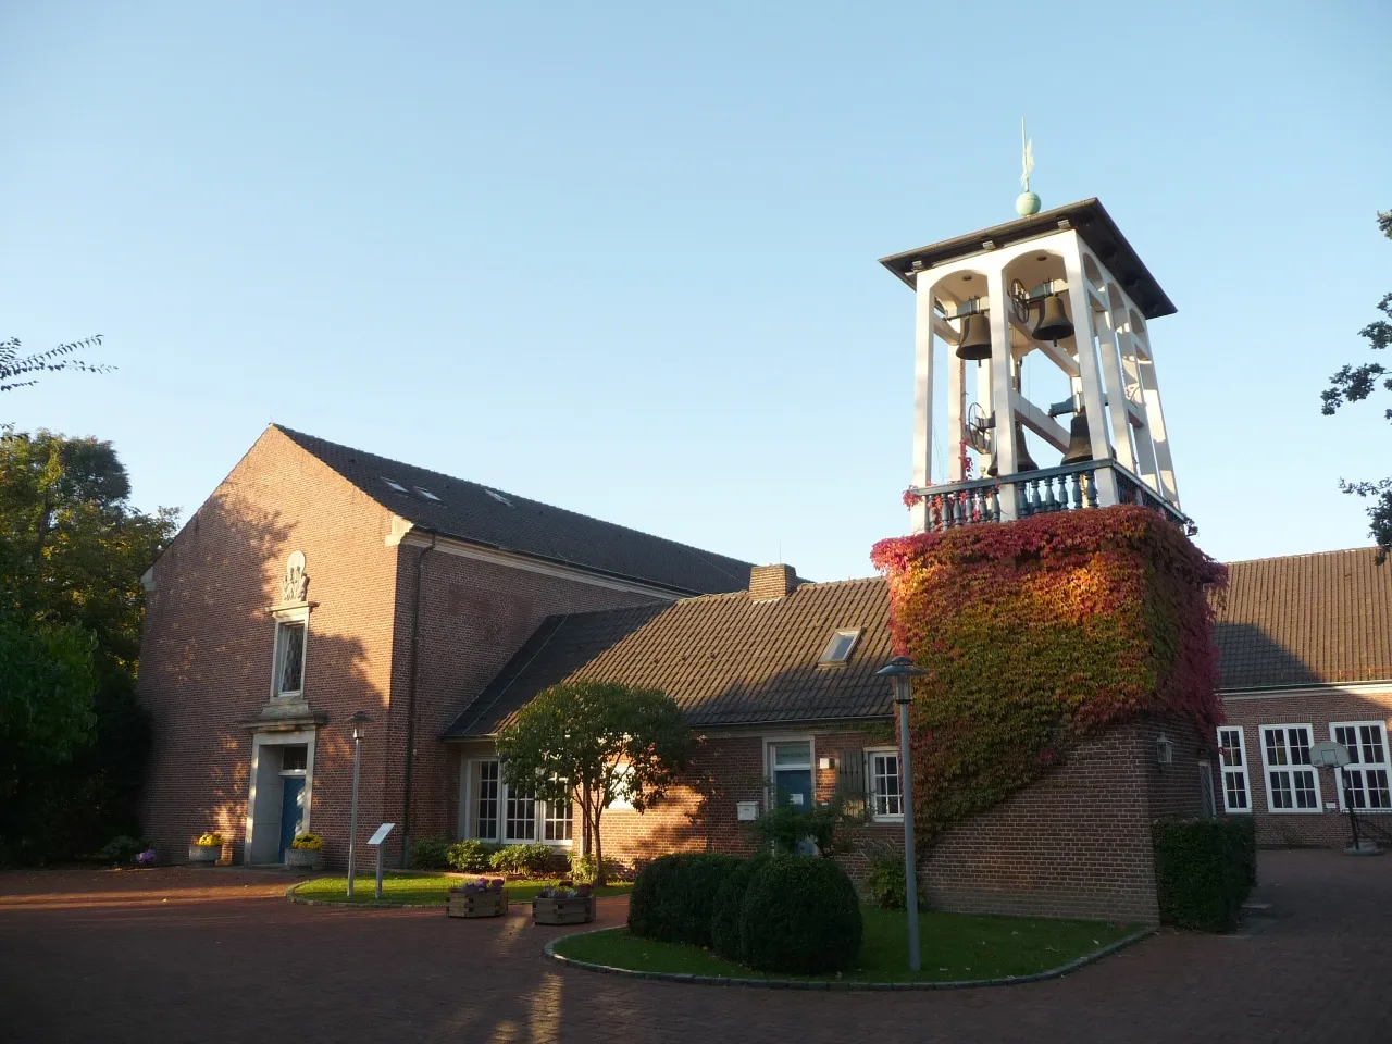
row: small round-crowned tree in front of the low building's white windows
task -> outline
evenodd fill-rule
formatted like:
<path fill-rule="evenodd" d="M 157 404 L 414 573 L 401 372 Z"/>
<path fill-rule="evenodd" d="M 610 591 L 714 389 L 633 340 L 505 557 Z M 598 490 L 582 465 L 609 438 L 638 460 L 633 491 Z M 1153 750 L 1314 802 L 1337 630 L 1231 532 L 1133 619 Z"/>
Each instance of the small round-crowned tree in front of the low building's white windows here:
<path fill-rule="evenodd" d="M 601 885 L 604 810 L 618 799 L 649 809 L 686 768 L 690 749 L 692 732 L 675 700 L 614 682 L 554 685 L 498 734 L 508 786 L 579 805 Z"/>

